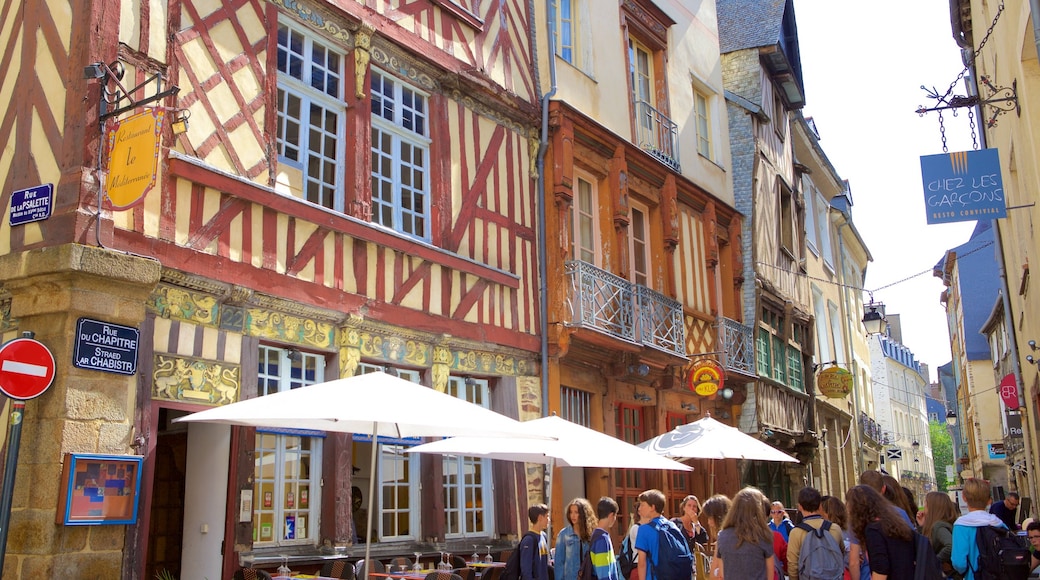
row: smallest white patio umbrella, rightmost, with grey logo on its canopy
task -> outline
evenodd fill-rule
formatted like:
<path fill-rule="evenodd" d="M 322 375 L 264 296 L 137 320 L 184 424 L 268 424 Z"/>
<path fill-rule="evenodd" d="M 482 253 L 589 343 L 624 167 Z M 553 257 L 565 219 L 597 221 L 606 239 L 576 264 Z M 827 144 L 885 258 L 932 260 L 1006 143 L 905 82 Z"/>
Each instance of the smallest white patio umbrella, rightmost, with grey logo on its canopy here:
<path fill-rule="evenodd" d="M 711 493 L 714 493 L 713 459 L 757 459 L 762 462 L 799 460 L 759 441 L 736 427 L 730 427 L 710 415 L 679 425 L 639 445 L 643 449 L 673 459 L 712 459 Z"/>

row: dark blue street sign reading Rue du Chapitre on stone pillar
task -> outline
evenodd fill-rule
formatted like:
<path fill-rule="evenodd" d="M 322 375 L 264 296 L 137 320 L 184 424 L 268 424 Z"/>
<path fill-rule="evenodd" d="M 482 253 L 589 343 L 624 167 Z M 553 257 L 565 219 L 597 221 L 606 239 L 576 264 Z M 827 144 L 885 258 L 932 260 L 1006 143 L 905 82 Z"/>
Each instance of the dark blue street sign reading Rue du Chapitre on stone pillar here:
<path fill-rule="evenodd" d="M 134 374 L 140 332 L 132 326 L 89 318 L 76 322 L 76 343 L 72 364 L 79 369 Z"/>

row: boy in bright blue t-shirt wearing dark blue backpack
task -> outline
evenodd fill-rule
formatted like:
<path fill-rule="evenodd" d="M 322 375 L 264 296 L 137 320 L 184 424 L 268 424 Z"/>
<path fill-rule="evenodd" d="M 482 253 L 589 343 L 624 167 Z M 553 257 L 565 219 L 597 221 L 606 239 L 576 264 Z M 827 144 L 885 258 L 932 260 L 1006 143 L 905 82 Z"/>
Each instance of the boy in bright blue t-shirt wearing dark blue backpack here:
<path fill-rule="evenodd" d="M 690 580 L 694 556 L 682 530 L 661 516 L 665 494 L 648 490 L 636 501 L 640 519 L 648 520 L 635 533 L 639 580 Z"/>

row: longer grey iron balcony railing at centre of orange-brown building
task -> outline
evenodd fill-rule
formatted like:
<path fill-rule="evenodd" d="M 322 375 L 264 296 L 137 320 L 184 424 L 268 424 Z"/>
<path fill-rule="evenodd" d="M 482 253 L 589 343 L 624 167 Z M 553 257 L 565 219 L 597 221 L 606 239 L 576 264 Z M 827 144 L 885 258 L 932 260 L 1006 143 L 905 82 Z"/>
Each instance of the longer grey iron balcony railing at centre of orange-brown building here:
<path fill-rule="evenodd" d="M 578 260 L 568 261 L 571 325 L 595 328 L 621 340 L 686 355 L 682 305 Z"/>

